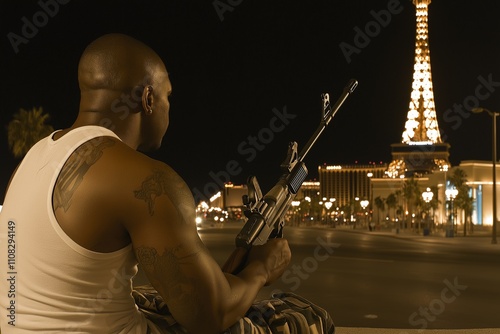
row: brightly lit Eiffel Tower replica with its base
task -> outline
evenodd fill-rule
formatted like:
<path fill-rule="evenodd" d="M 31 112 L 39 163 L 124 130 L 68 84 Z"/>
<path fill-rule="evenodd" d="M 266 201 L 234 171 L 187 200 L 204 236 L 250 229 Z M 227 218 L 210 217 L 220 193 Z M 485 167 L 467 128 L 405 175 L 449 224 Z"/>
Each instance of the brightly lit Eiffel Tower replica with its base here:
<path fill-rule="evenodd" d="M 416 7 L 415 64 L 413 84 L 401 143 L 391 145 L 391 178 L 420 177 L 448 170 L 450 145 L 441 141 L 429 51 L 428 6 L 431 0 L 413 0 Z"/>

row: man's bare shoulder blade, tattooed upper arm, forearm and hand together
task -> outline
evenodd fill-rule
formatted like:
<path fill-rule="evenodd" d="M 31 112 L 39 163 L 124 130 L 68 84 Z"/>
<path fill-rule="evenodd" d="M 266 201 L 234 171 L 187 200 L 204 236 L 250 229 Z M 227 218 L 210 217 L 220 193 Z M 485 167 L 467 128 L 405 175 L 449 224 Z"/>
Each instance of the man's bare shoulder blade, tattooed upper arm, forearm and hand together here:
<path fill-rule="evenodd" d="M 192 194 L 165 164 L 102 137 L 68 159 L 53 207 L 81 246 L 112 252 L 130 244 L 175 319 L 192 333 L 218 333 L 250 307 L 290 260 L 283 239 L 253 247 L 237 276 L 225 274 L 200 240 Z"/>

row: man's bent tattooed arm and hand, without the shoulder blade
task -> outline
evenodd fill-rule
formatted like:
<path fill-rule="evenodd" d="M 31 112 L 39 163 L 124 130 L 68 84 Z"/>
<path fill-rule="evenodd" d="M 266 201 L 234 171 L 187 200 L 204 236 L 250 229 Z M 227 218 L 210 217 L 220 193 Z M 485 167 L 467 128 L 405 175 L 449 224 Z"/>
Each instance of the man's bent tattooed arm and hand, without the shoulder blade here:
<path fill-rule="evenodd" d="M 139 174 L 125 227 L 140 265 L 189 331 L 226 329 L 244 315 L 262 286 L 281 276 L 290 261 L 286 240 L 255 247 L 237 276 L 223 273 L 198 236 L 193 197 L 179 175 L 156 161 Z"/>

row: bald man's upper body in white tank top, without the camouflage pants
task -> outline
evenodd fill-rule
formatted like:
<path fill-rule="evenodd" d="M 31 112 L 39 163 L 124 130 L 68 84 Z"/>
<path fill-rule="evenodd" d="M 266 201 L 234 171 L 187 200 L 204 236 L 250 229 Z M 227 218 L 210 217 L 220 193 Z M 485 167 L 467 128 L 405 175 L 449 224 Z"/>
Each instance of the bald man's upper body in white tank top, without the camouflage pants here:
<path fill-rule="evenodd" d="M 172 85 L 152 49 L 102 36 L 85 49 L 78 80 L 76 121 L 38 142 L 7 190 L 2 332 L 166 332 L 135 304 L 148 296 L 133 294 L 137 264 L 183 330 L 237 323 L 289 264 L 287 241 L 253 247 L 237 275 L 210 256 L 184 181 L 139 152 L 157 149 L 169 124 Z"/>

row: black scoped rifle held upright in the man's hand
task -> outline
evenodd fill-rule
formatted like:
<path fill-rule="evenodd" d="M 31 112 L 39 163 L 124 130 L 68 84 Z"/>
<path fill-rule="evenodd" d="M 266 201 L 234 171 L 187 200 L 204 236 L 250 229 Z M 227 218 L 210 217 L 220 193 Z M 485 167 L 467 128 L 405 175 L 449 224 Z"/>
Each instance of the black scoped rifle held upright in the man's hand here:
<path fill-rule="evenodd" d="M 297 143 L 289 143 L 287 156 L 280 165 L 283 174 L 265 196 L 262 196 L 257 178 L 248 178 L 248 195 L 242 198 L 247 221 L 236 236 L 236 249 L 222 266 L 224 272 L 237 274 L 243 269 L 252 245 L 263 245 L 270 238 L 283 236 L 285 214 L 307 176 L 304 157 L 357 86 L 358 81 L 351 79 L 333 107 L 328 93 L 321 95 L 323 108 L 318 128 L 300 154 L 297 153 Z"/>

